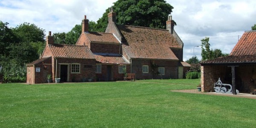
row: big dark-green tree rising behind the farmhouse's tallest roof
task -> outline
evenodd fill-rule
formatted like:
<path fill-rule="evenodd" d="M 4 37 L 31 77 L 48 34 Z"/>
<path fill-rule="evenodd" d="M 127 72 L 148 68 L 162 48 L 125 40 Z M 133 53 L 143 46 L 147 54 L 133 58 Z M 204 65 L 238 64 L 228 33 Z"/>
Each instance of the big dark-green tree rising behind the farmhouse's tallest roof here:
<path fill-rule="evenodd" d="M 118 0 L 113 9 L 118 24 L 165 29 L 166 20 L 173 7 L 165 0 Z M 106 9 L 97 21 L 97 31 L 105 31 L 108 26 L 108 13 L 109 9 Z"/>

